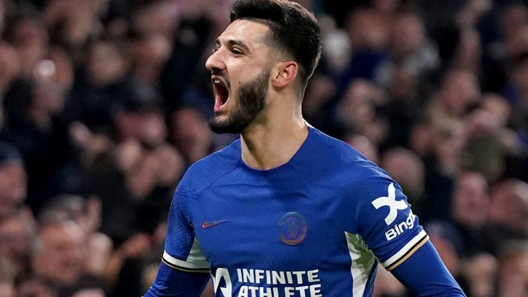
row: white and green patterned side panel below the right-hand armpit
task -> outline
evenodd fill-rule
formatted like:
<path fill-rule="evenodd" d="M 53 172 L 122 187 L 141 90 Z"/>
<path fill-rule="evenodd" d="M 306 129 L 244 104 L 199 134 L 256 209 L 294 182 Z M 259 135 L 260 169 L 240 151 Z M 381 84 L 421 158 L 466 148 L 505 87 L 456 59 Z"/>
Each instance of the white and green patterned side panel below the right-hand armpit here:
<path fill-rule="evenodd" d="M 366 247 L 366 243 L 358 234 L 344 232 L 347 237 L 349 254 L 352 263 L 350 272 L 352 274 L 352 296 L 363 296 L 366 284 L 369 282 L 369 275 L 376 265 L 376 257 L 373 252 Z"/>

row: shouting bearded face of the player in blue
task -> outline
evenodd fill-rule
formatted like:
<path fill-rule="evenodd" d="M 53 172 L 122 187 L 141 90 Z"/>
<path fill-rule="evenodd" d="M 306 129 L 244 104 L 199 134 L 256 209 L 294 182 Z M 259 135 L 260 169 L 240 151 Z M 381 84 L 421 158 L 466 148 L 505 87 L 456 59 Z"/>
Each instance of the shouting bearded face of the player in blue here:
<path fill-rule="evenodd" d="M 247 20 L 232 22 L 217 39 L 206 61 L 212 72 L 217 133 L 241 133 L 265 107 L 270 78 L 267 25 Z"/>

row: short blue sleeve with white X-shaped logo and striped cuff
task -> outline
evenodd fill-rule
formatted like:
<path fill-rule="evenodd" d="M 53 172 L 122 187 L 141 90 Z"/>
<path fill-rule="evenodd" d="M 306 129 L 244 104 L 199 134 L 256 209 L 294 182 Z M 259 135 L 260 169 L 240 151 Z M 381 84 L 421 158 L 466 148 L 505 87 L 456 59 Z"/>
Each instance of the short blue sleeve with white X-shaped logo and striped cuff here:
<path fill-rule="evenodd" d="M 393 179 L 381 173 L 366 175 L 356 188 L 357 234 L 385 269 L 391 271 L 429 237 Z"/>

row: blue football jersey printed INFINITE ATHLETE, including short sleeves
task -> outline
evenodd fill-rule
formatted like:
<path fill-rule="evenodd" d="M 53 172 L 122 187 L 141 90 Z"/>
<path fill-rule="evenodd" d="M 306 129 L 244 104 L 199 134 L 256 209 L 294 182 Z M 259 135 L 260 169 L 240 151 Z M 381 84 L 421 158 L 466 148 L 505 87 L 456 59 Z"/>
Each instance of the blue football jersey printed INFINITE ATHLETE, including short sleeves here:
<path fill-rule="evenodd" d="M 309 127 L 286 164 L 255 170 L 236 140 L 193 164 L 170 208 L 163 262 L 210 272 L 216 296 L 370 296 L 428 241 L 400 186 Z"/>

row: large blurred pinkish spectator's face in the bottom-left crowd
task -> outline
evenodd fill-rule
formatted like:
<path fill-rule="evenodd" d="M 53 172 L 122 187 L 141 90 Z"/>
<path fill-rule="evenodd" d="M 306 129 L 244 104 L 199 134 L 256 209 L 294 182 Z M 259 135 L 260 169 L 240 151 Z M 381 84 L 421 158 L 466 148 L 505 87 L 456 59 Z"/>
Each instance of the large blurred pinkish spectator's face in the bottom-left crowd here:
<path fill-rule="evenodd" d="M 73 221 L 41 228 L 34 251 L 37 275 L 64 285 L 72 285 L 85 269 L 85 234 Z"/>

